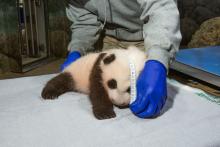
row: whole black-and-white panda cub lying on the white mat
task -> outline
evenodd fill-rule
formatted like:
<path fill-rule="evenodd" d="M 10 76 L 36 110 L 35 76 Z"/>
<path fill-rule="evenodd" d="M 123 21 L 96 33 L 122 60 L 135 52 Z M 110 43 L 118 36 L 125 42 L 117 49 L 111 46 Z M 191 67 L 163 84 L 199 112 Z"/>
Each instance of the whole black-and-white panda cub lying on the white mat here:
<path fill-rule="evenodd" d="M 87 54 L 48 81 L 41 95 L 55 99 L 69 91 L 88 94 L 97 119 L 113 118 L 113 105 L 124 107 L 130 102 L 129 63 L 133 63 L 137 79 L 146 59 L 134 46 Z"/>

